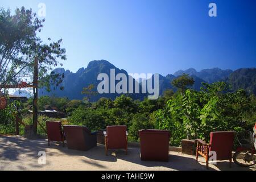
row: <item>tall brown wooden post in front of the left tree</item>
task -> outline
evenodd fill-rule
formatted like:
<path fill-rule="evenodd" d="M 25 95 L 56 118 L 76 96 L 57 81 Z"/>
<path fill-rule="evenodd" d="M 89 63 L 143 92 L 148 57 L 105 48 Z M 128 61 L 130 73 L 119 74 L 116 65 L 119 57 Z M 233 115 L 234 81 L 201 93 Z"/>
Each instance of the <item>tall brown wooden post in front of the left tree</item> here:
<path fill-rule="evenodd" d="M 35 58 L 34 63 L 34 78 L 33 78 L 33 94 L 34 94 L 34 100 L 33 100 L 33 134 L 34 136 L 37 135 L 38 130 L 38 58 Z"/>

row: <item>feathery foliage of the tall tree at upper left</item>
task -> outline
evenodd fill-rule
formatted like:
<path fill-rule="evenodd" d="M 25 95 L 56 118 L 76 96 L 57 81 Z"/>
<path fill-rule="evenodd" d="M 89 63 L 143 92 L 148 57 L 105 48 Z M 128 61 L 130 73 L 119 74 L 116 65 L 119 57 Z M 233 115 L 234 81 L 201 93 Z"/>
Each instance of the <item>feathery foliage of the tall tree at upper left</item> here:
<path fill-rule="evenodd" d="M 39 85 L 60 86 L 64 75 L 51 72 L 65 60 L 62 40 L 45 43 L 37 35 L 42 30 L 44 19 L 36 18 L 32 10 L 24 7 L 16 9 L 14 15 L 10 9 L 0 10 L 0 84 L 17 83 L 26 78 L 32 81 L 34 60 L 39 61 Z M 60 64 L 62 65 L 62 64 Z M 1 89 L 1 88 L 0 88 Z M 61 88 L 63 89 L 63 88 Z"/>

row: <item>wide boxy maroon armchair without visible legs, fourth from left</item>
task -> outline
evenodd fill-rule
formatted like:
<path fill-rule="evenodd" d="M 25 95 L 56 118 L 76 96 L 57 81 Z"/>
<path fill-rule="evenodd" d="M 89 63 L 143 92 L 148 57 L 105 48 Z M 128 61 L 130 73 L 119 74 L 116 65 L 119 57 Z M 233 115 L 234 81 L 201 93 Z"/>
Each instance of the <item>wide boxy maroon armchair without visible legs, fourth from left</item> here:
<path fill-rule="evenodd" d="M 170 132 L 167 130 L 139 130 L 141 160 L 169 160 Z"/>

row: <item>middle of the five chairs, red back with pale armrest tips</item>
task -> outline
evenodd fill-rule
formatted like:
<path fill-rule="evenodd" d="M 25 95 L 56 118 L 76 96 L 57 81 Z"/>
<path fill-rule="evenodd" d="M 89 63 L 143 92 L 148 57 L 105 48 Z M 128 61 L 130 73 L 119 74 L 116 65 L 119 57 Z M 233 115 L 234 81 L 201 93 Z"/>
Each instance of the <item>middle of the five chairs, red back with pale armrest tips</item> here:
<path fill-rule="evenodd" d="M 108 155 L 109 149 L 125 149 L 127 155 L 127 127 L 107 126 L 105 135 L 105 153 Z"/>

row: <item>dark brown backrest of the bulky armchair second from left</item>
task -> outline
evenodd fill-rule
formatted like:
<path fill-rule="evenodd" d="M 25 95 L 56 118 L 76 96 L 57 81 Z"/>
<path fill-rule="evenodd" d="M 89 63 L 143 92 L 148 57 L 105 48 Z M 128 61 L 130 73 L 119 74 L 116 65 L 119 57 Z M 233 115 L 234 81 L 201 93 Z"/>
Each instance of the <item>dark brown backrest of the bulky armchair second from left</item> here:
<path fill-rule="evenodd" d="M 86 150 L 86 135 L 91 132 L 86 126 L 64 125 L 63 126 L 68 148 Z"/>

